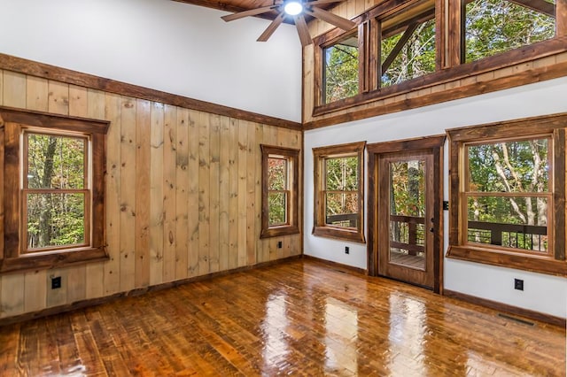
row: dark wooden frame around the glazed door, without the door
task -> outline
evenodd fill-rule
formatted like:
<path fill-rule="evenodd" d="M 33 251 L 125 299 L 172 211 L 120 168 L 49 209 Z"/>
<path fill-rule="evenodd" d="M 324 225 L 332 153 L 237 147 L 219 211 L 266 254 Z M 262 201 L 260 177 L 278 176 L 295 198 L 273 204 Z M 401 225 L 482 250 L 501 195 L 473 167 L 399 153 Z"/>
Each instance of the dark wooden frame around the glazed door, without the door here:
<path fill-rule="evenodd" d="M 424 152 L 433 155 L 433 181 L 437 184 L 437 192 L 433 193 L 433 227 L 438 229 L 433 235 L 433 291 L 443 293 L 443 146 L 446 135 L 434 135 L 415 139 L 399 140 L 394 142 L 376 142 L 367 144 L 369 153 L 369 191 L 367 201 L 368 213 L 368 273 L 370 276 L 378 275 L 377 256 L 377 200 L 379 182 L 377 182 L 378 158 L 382 154 L 397 152 Z M 435 189 L 435 188 L 434 188 Z"/>

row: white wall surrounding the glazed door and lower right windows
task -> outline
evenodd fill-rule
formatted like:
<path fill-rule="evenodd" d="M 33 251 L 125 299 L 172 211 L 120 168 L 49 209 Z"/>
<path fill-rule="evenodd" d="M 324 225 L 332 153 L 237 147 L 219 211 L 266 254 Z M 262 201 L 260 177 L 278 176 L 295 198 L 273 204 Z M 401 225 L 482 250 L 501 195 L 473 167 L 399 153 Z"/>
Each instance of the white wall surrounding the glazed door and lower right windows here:
<path fill-rule="evenodd" d="M 366 244 L 335 241 L 311 234 L 314 209 L 314 162 L 310 151 L 312 148 L 344 142 L 387 142 L 426 135 L 440 135 L 444 134 L 447 128 L 452 127 L 567 112 L 566 97 L 567 77 L 563 77 L 521 88 L 511 88 L 445 104 L 435 104 L 407 112 L 392 113 L 373 119 L 307 131 L 304 154 L 305 254 L 345 265 L 367 268 Z M 445 200 L 448 200 L 447 166 L 446 153 Z M 366 173 L 365 181 L 368 181 L 368 173 Z M 447 213 L 445 212 L 446 237 L 443 250 L 447 250 L 448 245 Z M 350 246 L 348 255 L 344 251 L 346 245 Z M 524 280 L 524 291 L 514 289 L 514 278 Z M 560 277 L 445 258 L 444 287 L 470 296 L 478 296 L 557 317 L 567 317 L 567 280 Z"/>

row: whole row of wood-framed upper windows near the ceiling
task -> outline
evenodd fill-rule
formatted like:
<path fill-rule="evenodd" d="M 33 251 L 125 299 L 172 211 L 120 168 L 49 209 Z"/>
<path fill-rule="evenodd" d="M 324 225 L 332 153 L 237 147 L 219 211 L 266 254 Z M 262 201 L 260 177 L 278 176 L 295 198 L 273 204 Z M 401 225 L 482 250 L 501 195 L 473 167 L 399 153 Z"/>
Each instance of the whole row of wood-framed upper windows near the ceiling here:
<path fill-rule="evenodd" d="M 482 92 L 509 88 L 540 80 L 540 73 L 526 72 L 532 63 L 534 70 L 549 67 L 541 73 L 546 77 L 558 77 L 563 72 L 560 60 L 551 57 L 566 50 L 566 8 L 567 3 L 556 0 L 380 1 L 353 18 L 356 34 L 334 28 L 314 38 L 313 60 L 306 59 L 306 77 L 313 77 L 315 90 L 306 100 L 314 108 L 307 117 L 329 124 L 326 118 L 316 118 L 357 107 L 355 118 L 364 118 L 437 103 L 447 98 L 441 92 L 461 87 L 466 89 L 459 96 L 470 96 L 478 94 L 472 84 L 484 73 L 518 80 L 493 84 L 486 74 L 480 76 L 487 86 Z M 430 88 L 435 96 L 427 96 Z M 417 96 L 407 101 L 398 97 L 410 92 Z M 416 99 L 422 97 L 424 101 Z M 388 103 L 396 106 L 377 103 L 390 98 Z M 373 112 L 361 106 L 370 103 Z M 337 115 L 346 119 L 354 114 Z"/>

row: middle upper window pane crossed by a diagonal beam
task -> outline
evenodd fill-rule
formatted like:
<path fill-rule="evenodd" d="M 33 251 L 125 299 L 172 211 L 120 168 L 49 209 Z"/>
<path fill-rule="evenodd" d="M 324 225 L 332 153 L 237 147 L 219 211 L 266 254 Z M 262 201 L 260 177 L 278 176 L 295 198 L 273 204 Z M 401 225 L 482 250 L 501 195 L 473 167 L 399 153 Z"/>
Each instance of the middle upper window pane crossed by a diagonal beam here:
<path fill-rule="evenodd" d="M 380 87 L 435 72 L 435 3 L 422 1 L 380 24 Z"/>

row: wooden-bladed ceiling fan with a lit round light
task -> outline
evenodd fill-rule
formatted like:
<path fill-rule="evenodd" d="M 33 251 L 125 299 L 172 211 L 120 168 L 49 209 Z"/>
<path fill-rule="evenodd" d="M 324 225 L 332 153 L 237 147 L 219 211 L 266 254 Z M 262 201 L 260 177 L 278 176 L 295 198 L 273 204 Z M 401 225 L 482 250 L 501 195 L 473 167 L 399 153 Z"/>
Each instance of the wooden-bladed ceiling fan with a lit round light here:
<path fill-rule="evenodd" d="M 258 38 L 258 42 L 266 42 L 268 41 L 269 37 L 274 34 L 276 28 L 279 27 L 283 19 L 287 17 L 293 18 L 295 26 L 298 29 L 299 34 L 299 41 L 301 42 L 302 46 L 307 46 L 308 44 L 313 43 L 311 39 L 311 35 L 309 35 L 309 29 L 307 28 L 307 22 L 305 20 L 305 15 L 313 16 L 317 19 L 322 19 L 325 22 L 330 23 L 336 27 L 339 27 L 343 30 L 351 30 L 356 24 L 351 21 L 350 19 L 345 19 L 340 17 L 334 13 L 325 11 L 324 9 L 318 8 L 318 5 L 321 4 L 330 4 L 330 3 L 337 3 L 338 1 L 342 0 L 285 0 L 283 2 L 279 2 L 274 0 L 274 4 L 268 6 L 261 6 L 260 8 L 251 9 L 249 11 L 244 12 L 237 12 L 234 14 L 229 14 L 226 16 L 222 16 L 221 19 L 224 19 L 226 22 L 235 20 L 235 19 L 242 19 L 247 16 L 257 16 L 262 13 L 268 13 L 272 11 L 278 12 L 276 19 L 274 19 L 264 30 L 264 33 L 260 35 Z"/>

